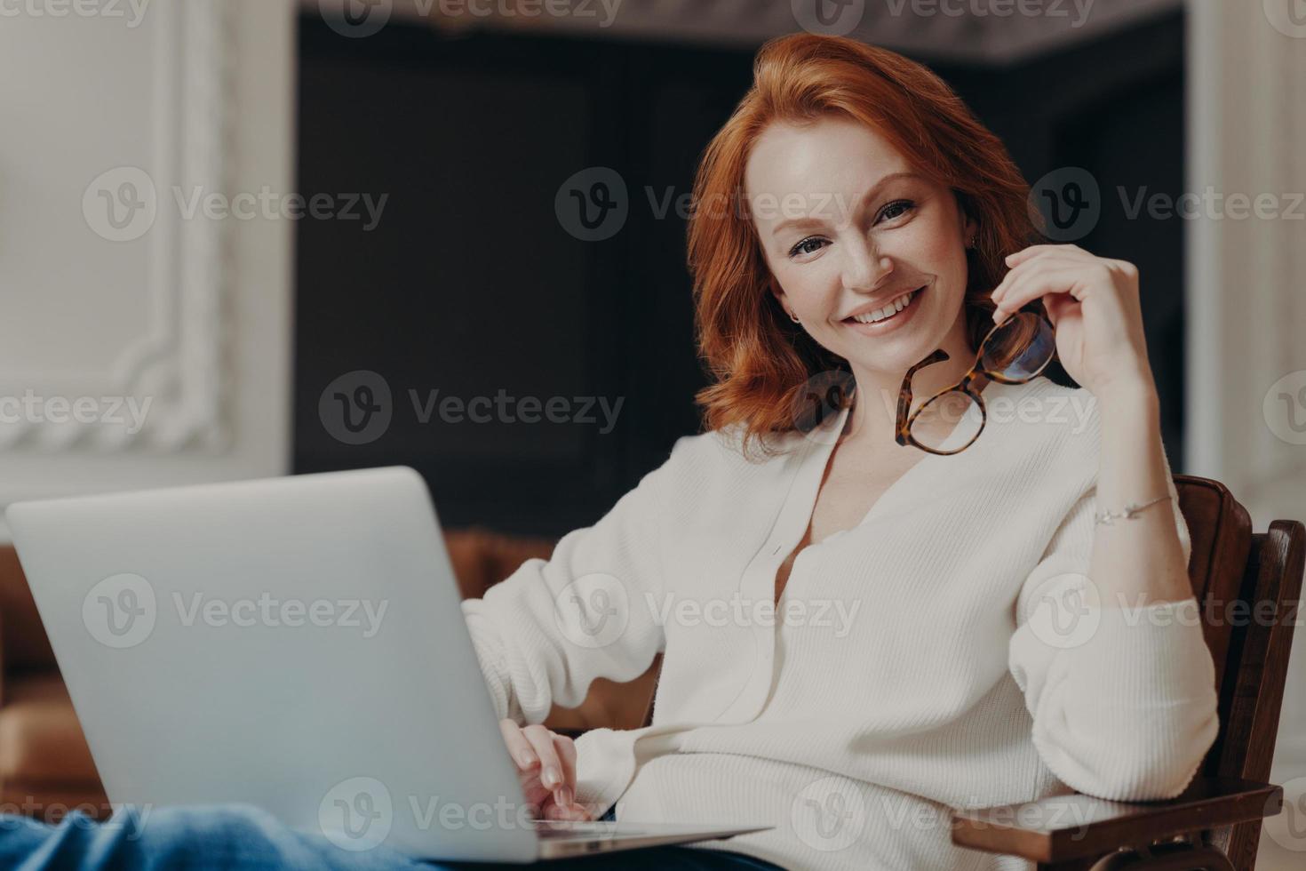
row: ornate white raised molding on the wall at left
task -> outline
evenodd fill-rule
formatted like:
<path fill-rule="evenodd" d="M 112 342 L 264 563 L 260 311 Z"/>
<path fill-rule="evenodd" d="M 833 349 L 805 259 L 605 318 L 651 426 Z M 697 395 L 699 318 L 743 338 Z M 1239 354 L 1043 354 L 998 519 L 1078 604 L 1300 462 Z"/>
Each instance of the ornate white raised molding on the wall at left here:
<path fill-rule="evenodd" d="M 0 420 L 0 448 L 37 447 L 46 452 L 146 448 L 180 451 L 225 443 L 223 385 L 229 379 L 223 359 L 223 295 L 230 287 L 231 223 L 184 221 L 170 208 L 170 189 L 200 185 L 226 192 L 234 142 L 230 38 L 234 5 L 204 0 L 165 3 L 150 13 L 153 26 L 153 171 L 155 218 L 141 238 L 150 248 L 148 304 L 141 309 L 146 328 L 123 334 L 123 346 L 108 362 L 86 359 L 85 367 L 31 368 L 12 360 L 0 375 L 5 396 L 29 390 L 40 397 L 127 397 L 149 400 L 144 426 L 125 415 L 106 414 L 95 420 L 69 415 L 7 415 Z M 48 27 L 47 27 L 48 30 Z M 142 163 L 146 161 L 142 161 Z M 120 179 L 125 175 L 116 174 Z M 93 191 L 108 195 L 106 208 L 118 208 L 112 184 Z M 150 196 L 137 191 L 138 196 Z M 159 202 L 158 200 L 162 198 Z M 97 202 L 95 205 L 99 205 Z M 121 210 L 120 210 L 121 212 Z M 132 244 L 124 242 L 119 244 Z M 33 326 L 39 326 L 33 324 Z M 17 418 L 17 419 L 14 419 Z M 112 418 L 112 419 L 103 419 Z M 116 420 L 121 418 L 123 423 Z"/>

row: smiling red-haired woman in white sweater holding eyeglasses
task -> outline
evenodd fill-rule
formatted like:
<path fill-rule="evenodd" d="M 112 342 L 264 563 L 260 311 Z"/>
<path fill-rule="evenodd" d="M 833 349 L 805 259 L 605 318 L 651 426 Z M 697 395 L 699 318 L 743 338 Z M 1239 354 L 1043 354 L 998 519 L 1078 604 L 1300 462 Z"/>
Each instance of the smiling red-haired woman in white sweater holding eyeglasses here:
<path fill-rule="evenodd" d="M 1025 196 L 921 65 L 842 38 L 763 47 L 695 183 L 707 431 L 464 603 L 546 814 L 774 825 L 643 859 L 658 867 L 1011 868 L 955 847 L 951 808 L 1187 785 L 1217 731 L 1215 670 L 1175 619 L 1196 602 L 1138 270 L 1029 245 Z M 987 424 L 964 451 L 899 443 L 904 376 L 943 349 L 912 392 L 956 384 L 1019 311 L 1046 312 L 1083 387 L 981 379 Z M 961 431 L 923 415 L 912 434 L 951 449 Z M 1145 507 L 1098 522 L 1128 504 Z M 650 726 L 575 746 L 522 727 L 658 652 Z M 196 819 L 146 827 L 142 854 L 404 867 L 249 811 L 204 816 L 206 836 Z M 54 838 L 24 825 L 26 849 Z"/>

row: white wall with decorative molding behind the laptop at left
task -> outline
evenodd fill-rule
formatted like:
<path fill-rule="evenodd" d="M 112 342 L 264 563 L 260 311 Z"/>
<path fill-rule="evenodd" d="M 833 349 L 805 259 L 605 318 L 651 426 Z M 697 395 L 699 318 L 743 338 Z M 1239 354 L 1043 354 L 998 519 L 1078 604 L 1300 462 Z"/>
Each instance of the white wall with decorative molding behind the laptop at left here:
<path fill-rule="evenodd" d="M 294 12 L 0 9 L 0 505 L 287 470 L 294 225 L 176 192 L 291 191 Z"/>

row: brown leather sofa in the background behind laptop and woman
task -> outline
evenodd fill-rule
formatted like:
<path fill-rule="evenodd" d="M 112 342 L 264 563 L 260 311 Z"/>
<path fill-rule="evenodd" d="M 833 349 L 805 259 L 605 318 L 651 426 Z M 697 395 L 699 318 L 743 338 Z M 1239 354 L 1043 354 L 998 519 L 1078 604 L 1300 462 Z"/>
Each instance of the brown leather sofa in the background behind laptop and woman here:
<path fill-rule="evenodd" d="M 481 528 L 448 530 L 445 545 L 464 598 L 479 597 L 554 542 Z M 546 725 L 567 734 L 645 721 L 658 662 L 628 684 L 597 680 L 579 708 L 558 708 Z M 12 546 L 0 545 L 0 812 L 54 820 L 80 807 L 103 816 L 107 800 L 68 699 L 50 641 Z"/>

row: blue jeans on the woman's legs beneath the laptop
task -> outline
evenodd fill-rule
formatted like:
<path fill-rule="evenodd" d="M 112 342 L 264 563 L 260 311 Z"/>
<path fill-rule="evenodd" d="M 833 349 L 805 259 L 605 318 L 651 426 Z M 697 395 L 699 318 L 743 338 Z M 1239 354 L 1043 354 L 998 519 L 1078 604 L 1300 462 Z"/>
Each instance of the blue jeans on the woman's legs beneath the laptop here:
<path fill-rule="evenodd" d="M 57 825 L 0 815 L 0 868 L 14 871 L 490 871 L 517 864 L 418 862 L 384 845 L 350 853 L 325 837 L 298 832 L 249 804 L 154 808 L 145 820 L 118 810 L 104 823 L 73 811 Z M 778 866 L 739 853 L 653 847 L 618 857 L 562 859 L 550 871 L 769 871 Z"/>

